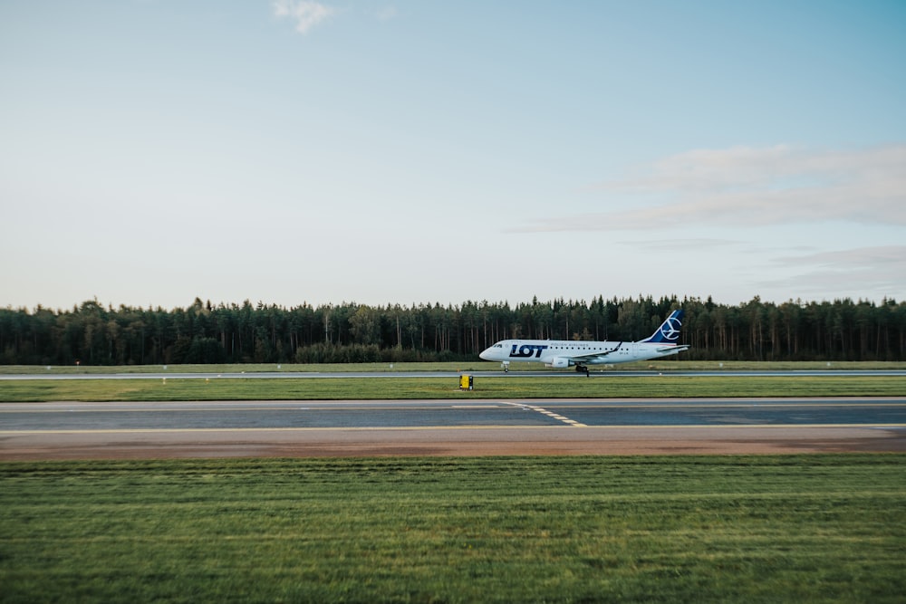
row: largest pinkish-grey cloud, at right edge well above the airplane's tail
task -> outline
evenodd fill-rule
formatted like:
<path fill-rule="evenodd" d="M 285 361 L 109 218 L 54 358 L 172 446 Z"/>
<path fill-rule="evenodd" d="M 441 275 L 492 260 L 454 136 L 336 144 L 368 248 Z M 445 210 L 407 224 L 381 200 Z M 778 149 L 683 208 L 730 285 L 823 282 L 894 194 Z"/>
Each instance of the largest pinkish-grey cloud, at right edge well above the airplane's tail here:
<path fill-rule="evenodd" d="M 906 225 L 906 145 L 850 151 L 697 149 L 593 190 L 604 194 L 606 203 L 627 209 L 537 220 L 516 232 L 818 220 Z M 642 198 L 646 206 L 637 207 Z"/>

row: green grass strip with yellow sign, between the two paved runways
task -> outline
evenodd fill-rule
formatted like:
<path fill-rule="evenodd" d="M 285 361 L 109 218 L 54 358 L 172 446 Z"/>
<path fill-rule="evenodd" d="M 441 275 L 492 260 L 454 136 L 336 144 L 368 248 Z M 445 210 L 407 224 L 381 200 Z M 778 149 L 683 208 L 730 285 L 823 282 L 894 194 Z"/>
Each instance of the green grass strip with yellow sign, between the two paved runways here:
<path fill-rule="evenodd" d="M 0 402 L 151 400 L 336 400 L 405 398 L 898 397 L 906 377 L 594 377 L 35 379 L 0 381 Z"/>

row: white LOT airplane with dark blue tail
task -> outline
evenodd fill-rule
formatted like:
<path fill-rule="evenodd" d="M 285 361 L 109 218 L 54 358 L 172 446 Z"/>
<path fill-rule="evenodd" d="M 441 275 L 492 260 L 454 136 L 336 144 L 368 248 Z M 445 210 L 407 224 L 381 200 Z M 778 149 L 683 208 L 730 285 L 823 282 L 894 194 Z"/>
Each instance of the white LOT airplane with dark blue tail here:
<path fill-rule="evenodd" d="M 547 367 L 575 370 L 588 375 L 589 365 L 629 363 L 633 360 L 650 360 L 668 357 L 689 344 L 678 344 L 682 327 L 682 311 L 673 311 L 660 324 L 651 337 L 634 342 L 573 341 L 573 340 L 500 340 L 478 356 L 484 360 L 499 360 L 504 371 L 510 362 L 545 363 Z"/>

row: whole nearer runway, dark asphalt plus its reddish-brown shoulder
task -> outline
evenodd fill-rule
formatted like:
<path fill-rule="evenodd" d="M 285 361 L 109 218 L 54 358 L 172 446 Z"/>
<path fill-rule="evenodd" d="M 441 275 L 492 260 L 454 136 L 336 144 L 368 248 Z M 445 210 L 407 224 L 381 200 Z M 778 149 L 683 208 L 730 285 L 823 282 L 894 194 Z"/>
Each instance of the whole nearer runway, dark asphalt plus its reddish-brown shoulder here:
<path fill-rule="evenodd" d="M 0 460 L 906 451 L 906 398 L 7 403 Z"/>

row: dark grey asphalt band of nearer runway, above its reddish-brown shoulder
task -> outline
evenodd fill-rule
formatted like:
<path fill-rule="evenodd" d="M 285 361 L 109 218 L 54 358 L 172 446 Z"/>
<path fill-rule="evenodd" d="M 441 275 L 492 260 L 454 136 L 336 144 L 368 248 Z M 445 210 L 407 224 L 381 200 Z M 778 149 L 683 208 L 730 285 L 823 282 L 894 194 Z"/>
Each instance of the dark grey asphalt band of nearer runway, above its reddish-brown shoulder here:
<path fill-rule="evenodd" d="M 906 427 L 906 398 L 6 403 L 0 407 L 4 432 L 560 425 Z"/>

